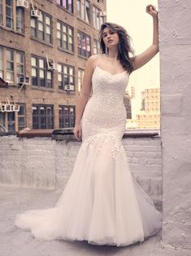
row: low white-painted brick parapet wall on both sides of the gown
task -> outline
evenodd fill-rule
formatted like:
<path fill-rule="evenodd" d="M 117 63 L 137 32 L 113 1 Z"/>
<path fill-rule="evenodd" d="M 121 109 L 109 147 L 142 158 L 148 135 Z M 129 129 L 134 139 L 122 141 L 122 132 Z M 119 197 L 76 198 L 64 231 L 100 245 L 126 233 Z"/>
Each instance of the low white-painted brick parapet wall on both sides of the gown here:
<path fill-rule="evenodd" d="M 0 137 L 0 183 L 27 188 L 63 189 L 79 142 Z M 154 201 L 162 201 L 160 138 L 123 139 L 130 170 Z"/>

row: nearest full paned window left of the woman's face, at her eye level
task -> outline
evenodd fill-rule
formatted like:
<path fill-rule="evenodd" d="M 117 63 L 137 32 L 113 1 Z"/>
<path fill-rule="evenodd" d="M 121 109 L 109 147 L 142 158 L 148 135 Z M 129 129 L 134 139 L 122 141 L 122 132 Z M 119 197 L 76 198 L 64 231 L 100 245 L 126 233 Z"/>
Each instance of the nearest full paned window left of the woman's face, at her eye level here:
<path fill-rule="evenodd" d="M 77 33 L 77 42 L 78 42 L 78 54 L 85 58 L 89 58 L 91 55 L 91 46 L 90 46 L 90 37 L 85 33 Z"/>

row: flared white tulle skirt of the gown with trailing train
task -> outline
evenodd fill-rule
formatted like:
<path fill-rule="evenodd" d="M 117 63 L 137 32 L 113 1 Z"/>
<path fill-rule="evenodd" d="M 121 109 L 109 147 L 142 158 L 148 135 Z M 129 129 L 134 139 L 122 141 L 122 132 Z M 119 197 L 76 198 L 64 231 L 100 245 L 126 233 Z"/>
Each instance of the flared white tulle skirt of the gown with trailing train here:
<path fill-rule="evenodd" d="M 133 178 L 121 139 L 99 134 L 81 144 L 54 208 L 18 214 L 15 225 L 43 240 L 124 246 L 157 233 L 162 215 Z"/>

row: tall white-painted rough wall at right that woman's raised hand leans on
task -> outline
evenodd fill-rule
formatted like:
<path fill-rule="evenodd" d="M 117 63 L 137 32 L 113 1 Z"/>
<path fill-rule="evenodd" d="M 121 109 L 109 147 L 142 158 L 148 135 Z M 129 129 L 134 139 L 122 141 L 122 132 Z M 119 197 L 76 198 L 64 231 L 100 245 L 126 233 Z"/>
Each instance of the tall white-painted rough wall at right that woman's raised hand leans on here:
<path fill-rule="evenodd" d="M 191 248 L 191 2 L 159 0 L 163 243 Z"/>

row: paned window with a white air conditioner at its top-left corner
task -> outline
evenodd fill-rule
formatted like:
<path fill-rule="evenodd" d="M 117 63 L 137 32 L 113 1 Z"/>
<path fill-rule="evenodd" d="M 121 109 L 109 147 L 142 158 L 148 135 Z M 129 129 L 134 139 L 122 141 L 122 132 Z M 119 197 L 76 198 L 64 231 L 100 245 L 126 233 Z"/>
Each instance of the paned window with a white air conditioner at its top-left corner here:
<path fill-rule="evenodd" d="M 52 18 L 50 15 L 41 11 L 40 17 L 31 17 L 31 35 L 41 41 L 52 43 Z"/>

